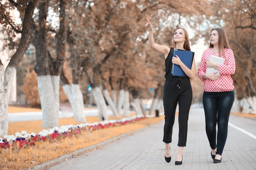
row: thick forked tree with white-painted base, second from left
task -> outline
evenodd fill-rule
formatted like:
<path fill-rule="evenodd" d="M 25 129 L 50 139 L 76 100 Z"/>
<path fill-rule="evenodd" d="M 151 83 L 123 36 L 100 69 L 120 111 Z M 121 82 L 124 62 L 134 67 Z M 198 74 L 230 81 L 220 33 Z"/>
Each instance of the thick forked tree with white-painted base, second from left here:
<path fill-rule="evenodd" d="M 38 3 L 38 13 L 34 16 L 32 44 L 36 48 L 38 92 L 43 112 L 43 128 L 58 126 L 59 80 L 65 57 L 65 1 L 60 0 L 58 8 L 59 24 L 52 26 L 48 15 L 49 3 L 58 1 L 43 0 Z M 54 11 L 54 8 L 52 8 Z M 49 51 L 52 35 L 56 40 L 56 55 Z"/>

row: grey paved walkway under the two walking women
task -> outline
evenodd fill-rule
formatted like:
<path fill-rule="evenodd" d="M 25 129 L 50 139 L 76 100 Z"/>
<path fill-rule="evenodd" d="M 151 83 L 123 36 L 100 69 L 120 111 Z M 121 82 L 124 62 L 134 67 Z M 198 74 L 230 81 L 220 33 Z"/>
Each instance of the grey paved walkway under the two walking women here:
<path fill-rule="evenodd" d="M 172 159 L 164 160 L 164 121 L 34 167 L 34 170 L 256 170 L 256 119 L 231 115 L 221 163 L 213 163 L 202 109 L 189 115 L 182 165 L 175 166 L 178 122 L 173 127 Z M 96 149 L 96 148 L 100 149 Z M 87 150 L 92 150 L 86 152 Z M 74 155 L 74 158 L 72 156 Z"/>

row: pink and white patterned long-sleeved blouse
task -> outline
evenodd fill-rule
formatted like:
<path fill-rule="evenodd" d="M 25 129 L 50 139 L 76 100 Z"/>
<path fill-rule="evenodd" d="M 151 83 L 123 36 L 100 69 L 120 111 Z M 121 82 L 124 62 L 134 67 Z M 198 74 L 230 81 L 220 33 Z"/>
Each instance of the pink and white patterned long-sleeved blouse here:
<path fill-rule="evenodd" d="M 234 53 L 231 49 L 224 49 L 225 62 L 219 65 L 220 79 L 214 81 L 210 79 L 203 79 L 203 75 L 206 71 L 206 62 L 209 60 L 210 55 L 218 56 L 211 48 L 204 50 L 200 65 L 198 67 L 198 77 L 204 83 L 203 89 L 207 92 L 222 92 L 222 91 L 233 91 L 234 82 L 231 78 L 236 71 L 236 63 Z"/>

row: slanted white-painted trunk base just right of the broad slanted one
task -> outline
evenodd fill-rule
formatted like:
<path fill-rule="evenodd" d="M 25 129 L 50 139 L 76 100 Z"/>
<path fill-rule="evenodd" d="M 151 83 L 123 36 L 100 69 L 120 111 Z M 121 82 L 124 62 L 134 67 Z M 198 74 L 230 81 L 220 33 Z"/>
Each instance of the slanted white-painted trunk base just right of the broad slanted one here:
<path fill-rule="evenodd" d="M 92 95 L 99 110 L 99 120 L 108 120 L 108 108 L 99 87 L 92 88 Z"/>

